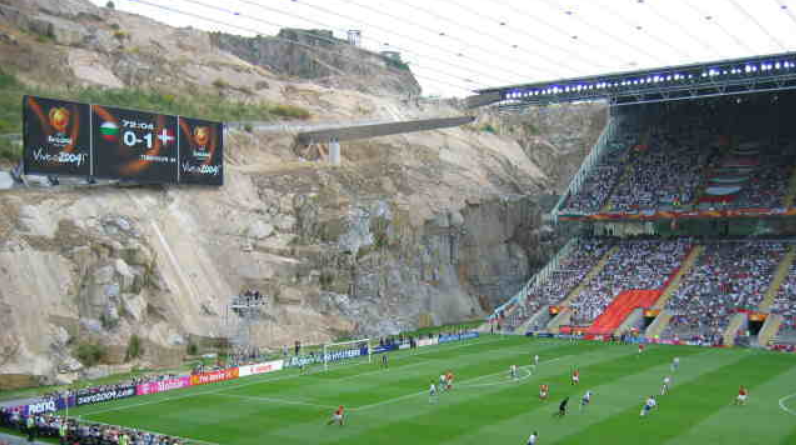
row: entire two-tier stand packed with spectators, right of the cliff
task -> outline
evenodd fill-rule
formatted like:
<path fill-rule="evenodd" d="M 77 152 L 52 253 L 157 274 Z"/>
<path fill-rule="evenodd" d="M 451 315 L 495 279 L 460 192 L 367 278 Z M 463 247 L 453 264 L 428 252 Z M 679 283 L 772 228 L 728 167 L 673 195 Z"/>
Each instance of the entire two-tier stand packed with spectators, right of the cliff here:
<path fill-rule="evenodd" d="M 554 210 L 581 239 L 528 291 L 526 331 L 796 345 L 793 106 L 778 93 L 612 109 Z"/>

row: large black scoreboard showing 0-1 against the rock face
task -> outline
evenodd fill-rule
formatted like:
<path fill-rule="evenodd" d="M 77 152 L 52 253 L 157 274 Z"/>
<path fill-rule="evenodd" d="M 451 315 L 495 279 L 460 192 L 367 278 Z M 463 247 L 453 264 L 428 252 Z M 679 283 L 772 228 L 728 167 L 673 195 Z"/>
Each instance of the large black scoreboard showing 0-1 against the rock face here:
<path fill-rule="evenodd" d="M 224 184 L 219 122 L 26 96 L 25 172 Z"/>

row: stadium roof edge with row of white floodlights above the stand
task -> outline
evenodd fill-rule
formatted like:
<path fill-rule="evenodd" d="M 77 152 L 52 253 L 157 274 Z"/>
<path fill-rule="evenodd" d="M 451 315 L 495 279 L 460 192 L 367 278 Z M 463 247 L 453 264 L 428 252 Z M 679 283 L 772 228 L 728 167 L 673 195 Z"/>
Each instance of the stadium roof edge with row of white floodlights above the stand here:
<path fill-rule="evenodd" d="M 793 52 L 489 88 L 471 102 L 502 109 L 588 100 L 629 105 L 787 89 L 796 89 Z"/>

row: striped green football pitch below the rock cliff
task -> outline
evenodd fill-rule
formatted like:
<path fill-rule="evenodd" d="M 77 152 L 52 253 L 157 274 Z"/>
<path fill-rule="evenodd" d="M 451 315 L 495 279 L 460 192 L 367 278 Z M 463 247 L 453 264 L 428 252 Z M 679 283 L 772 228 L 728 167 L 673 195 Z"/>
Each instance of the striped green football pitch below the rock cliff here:
<path fill-rule="evenodd" d="M 531 375 L 530 358 L 540 366 Z M 680 368 L 672 371 L 672 359 Z M 796 444 L 796 355 L 748 349 L 649 346 L 484 336 L 390 355 L 387 370 L 352 361 L 307 375 L 287 370 L 71 410 L 205 444 Z M 520 379 L 509 367 L 520 366 Z M 580 370 L 579 386 L 570 373 Z M 430 403 L 440 373 L 452 391 Z M 658 396 L 665 376 L 673 387 Z M 540 384 L 551 397 L 539 400 Z M 744 406 L 733 404 L 739 385 Z M 592 403 L 579 410 L 592 390 Z M 646 397 L 658 409 L 640 417 Z M 553 416 L 571 397 L 563 418 Z M 346 424 L 328 426 L 337 405 Z"/>

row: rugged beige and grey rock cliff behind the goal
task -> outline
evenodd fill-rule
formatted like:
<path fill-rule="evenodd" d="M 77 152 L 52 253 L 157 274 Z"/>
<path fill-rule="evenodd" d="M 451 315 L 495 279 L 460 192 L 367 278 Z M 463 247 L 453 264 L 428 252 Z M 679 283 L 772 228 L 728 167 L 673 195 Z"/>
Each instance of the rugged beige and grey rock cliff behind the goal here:
<path fill-rule="evenodd" d="M 30 83 L 58 74 L 184 91 L 221 78 L 223 95 L 302 105 L 317 119 L 461 112 L 362 92 L 414 94 L 411 76 L 358 80 L 360 68 L 318 59 L 306 77 L 322 85 L 285 78 L 274 72 L 301 74 L 304 56 L 267 39 L 211 38 L 83 0 L 0 0 L 0 33 L 4 69 Z M 0 191 L 0 385 L 107 372 L 76 360 L 86 344 L 112 365 L 173 364 L 189 342 L 236 335 L 226 306 L 245 289 L 268 297 L 254 327 L 263 347 L 481 317 L 555 252 L 541 214 L 600 116 L 485 112 L 479 125 L 497 134 L 471 125 L 345 143 L 340 167 L 300 160 L 294 135 L 232 131 L 222 188 Z"/>

